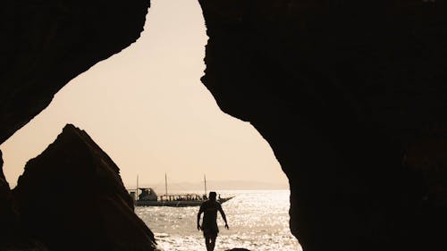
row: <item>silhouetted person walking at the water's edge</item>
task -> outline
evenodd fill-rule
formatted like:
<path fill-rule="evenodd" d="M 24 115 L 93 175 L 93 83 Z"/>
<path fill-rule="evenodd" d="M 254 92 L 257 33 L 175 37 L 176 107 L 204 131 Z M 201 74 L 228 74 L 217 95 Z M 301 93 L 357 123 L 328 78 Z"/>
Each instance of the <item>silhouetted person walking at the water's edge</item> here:
<path fill-rule="evenodd" d="M 209 199 L 200 205 L 200 209 L 197 214 L 197 229 L 203 230 L 203 236 L 205 237 L 205 245 L 207 251 L 215 250 L 215 238 L 219 228 L 217 227 L 217 211 L 222 215 L 223 222 L 225 222 L 225 228 L 228 230 L 228 223 L 226 222 L 225 213 L 223 213 L 222 205 L 215 201 L 215 192 L 209 192 Z M 200 215 L 203 214 L 202 226 L 200 227 Z"/>

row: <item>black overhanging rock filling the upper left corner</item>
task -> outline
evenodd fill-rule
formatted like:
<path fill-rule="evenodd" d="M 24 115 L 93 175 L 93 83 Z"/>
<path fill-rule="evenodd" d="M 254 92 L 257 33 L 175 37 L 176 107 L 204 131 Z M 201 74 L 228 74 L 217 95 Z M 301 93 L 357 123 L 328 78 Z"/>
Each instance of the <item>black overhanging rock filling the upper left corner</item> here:
<path fill-rule="evenodd" d="M 55 93 L 139 38 L 149 0 L 2 1 L 0 143 Z"/>

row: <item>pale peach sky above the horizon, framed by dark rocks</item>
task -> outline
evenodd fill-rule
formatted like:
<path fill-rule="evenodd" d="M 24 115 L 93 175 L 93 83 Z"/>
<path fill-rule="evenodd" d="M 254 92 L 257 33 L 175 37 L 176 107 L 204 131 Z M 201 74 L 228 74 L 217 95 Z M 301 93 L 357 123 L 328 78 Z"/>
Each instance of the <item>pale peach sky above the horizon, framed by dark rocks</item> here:
<path fill-rule="evenodd" d="M 86 130 L 124 184 L 257 180 L 288 188 L 271 147 L 223 113 L 200 82 L 205 21 L 197 0 L 153 0 L 141 38 L 66 85 L 0 149 L 10 185 L 66 123 Z M 209 184 L 212 186 L 212 184 Z"/>

